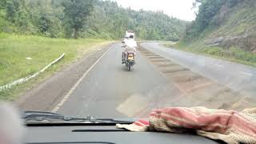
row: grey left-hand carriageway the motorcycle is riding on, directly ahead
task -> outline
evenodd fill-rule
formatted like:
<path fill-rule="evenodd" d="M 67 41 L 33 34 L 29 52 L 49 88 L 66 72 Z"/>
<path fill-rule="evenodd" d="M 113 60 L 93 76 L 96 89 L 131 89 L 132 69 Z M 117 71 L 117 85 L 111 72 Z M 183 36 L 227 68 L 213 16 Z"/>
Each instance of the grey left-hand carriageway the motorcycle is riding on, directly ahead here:
<path fill-rule="evenodd" d="M 121 64 L 121 54 L 121 44 L 111 46 L 57 112 L 78 117 L 139 118 L 177 95 L 175 87 L 139 52 L 131 71 Z"/>

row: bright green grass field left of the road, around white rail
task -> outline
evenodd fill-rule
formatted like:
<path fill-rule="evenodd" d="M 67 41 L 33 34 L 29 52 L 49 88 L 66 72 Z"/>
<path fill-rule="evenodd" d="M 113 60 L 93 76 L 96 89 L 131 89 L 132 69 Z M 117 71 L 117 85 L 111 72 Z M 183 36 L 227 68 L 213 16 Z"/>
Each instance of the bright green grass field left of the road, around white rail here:
<path fill-rule="evenodd" d="M 0 92 L 0 99 L 11 100 L 63 66 L 82 58 L 98 46 L 110 43 L 105 39 L 45 38 L 31 35 L 0 33 L 0 86 L 41 70 L 61 54 L 65 57 L 38 78 Z M 31 58 L 31 59 L 27 59 Z"/>

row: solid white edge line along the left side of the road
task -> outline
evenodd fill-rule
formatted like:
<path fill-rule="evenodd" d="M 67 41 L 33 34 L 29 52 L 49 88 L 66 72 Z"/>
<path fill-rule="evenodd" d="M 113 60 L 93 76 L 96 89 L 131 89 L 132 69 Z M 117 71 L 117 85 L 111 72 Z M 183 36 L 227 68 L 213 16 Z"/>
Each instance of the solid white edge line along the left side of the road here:
<path fill-rule="evenodd" d="M 70 95 L 73 93 L 73 91 L 78 87 L 78 85 L 80 84 L 80 82 L 82 82 L 82 79 L 86 77 L 86 75 L 90 72 L 90 70 L 92 70 L 94 68 L 94 66 L 96 66 L 96 64 L 104 57 L 104 55 L 110 51 L 112 46 L 110 46 L 110 48 L 108 50 L 105 51 L 104 54 L 102 54 L 102 56 L 100 58 L 98 58 L 98 60 L 96 62 L 94 62 L 94 64 L 92 66 L 90 66 L 90 68 L 88 70 L 86 70 L 86 73 L 82 74 L 82 77 L 78 79 L 78 82 L 76 82 L 74 84 L 74 86 L 72 86 L 72 88 L 70 89 L 70 91 L 65 95 L 64 98 L 62 98 L 62 101 L 58 103 L 57 106 L 54 107 L 53 110 L 51 110 L 51 112 L 56 113 L 58 111 L 58 109 L 64 105 L 64 103 L 66 102 L 66 100 L 68 98 L 70 98 Z"/>

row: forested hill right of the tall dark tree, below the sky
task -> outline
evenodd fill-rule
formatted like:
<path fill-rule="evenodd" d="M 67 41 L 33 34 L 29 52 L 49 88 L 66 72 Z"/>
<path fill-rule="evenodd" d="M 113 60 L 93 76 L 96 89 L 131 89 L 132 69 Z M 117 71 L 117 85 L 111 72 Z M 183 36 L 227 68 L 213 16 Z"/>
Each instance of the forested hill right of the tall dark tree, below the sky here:
<path fill-rule="evenodd" d="M 162 12 L 136 11 L 120 7 L 117 2 L 97 1 L 84 34 L 86 37 L 122 38 L 125 30 L 134 30 L 140 39 L 177 41 L 187 23 Z"/>

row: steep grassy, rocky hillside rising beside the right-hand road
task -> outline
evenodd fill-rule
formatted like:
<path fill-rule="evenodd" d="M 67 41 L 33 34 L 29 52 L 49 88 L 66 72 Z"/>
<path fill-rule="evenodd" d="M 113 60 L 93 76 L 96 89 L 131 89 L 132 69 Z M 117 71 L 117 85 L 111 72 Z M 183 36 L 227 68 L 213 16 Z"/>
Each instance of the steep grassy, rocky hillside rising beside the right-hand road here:
<path fill-rule="evenodd" d="M 255 66 L 256 1 L 195 0 L 196 19 L 177 46 Z"/>

